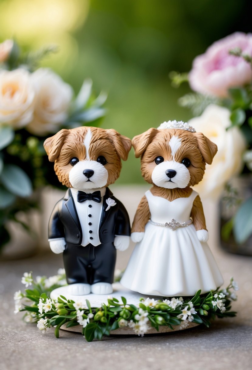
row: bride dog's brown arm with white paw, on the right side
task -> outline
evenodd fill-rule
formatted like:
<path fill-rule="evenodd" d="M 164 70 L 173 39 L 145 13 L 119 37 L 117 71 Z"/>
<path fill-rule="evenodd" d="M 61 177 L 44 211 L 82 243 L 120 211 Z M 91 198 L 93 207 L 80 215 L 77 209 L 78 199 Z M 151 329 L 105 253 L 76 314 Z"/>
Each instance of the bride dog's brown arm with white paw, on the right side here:
<path fill-rule="evenodd" d="M 196 229 L 197 237 L 201 242 L 207 242 L 208 231 L 205 224 L 205 216 L 200 200 L 200 196 L 197 195 L 193 202 L 193 208 L 191 210 L 191 218 Z"/>

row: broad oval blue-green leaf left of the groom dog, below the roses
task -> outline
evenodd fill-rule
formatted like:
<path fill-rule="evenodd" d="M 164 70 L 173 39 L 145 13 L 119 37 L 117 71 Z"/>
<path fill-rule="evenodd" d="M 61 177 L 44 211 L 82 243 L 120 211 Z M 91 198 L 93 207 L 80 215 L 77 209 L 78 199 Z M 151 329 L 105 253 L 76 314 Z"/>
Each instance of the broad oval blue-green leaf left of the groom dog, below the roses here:
<path fill-rule="evenodd" d="M 30 178 L 23 169 L 16 165 L 5 165 L 0 179 L 3 185 L 15 195 L 25 198 L 33 192 L 33 185 Z"/>

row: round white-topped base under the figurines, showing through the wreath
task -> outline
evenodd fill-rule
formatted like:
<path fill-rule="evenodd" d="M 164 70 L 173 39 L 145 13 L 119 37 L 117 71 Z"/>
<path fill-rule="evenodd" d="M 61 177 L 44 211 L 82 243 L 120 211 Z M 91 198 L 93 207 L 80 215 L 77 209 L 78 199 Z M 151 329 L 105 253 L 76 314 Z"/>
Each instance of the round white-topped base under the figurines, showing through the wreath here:
<path fill-rule="evenodd" d="M 70 295 L 68 293 L 68 286 L 61 286 L 57 289 L 52 290 L 50 297 L 53 300 L 57 300 L 60 295 L 66 297 L 67 299 L 72 299 L 75 302 L 77 302 L 77 301 L 81 302 L 81 303 L 83 303 L 84 306 L 86 306 L 86 299 L 88 299 L 90 304 L 91 304 L 91 307 L 100 307 L 102 305 L 102 303 L 106 303 L 107 299 L 108 299 L 108 295 L 106 295 L 106 294 L 105 295 L 102 295 L 102 294 L 99 295 L 99 294 L 92 294 L 91 293 L 91 294 L 87 294 L 85 296 L 73 296 L 73 295 Z M 112 296 L 114 298 L 117 298 L 119 300 L 119 302 L 121 301 L 121 297 L 123 296 L 123 297 L 126 298 L 127 303 L 132 304 L 132 305 L 138 305 L 139 304 L 139 299 L 141 297 L 143 297 L 145 299 L 148 298 L 148 296 L 146 296 L 146 295 L 142 295 L 140 293 L 133 292 L 132 290 L 126 289 L 125 287 L 120 285 L 120 283 L 114 283 L 113 284 L 113 293 L 110 296 Z M 161 297 L 151 296 L 151 298 L 160 299 Z M 192 322 L 189 322 L 188 324 L 189 325 L 185 329 L 190 329 L 194 326 L 199 325 L 199 324 L 192 323 Z M 64 324 L 64 325 L 61 326 L 61 329 L 68 330 L 70 332 L 76 332 L 76 333 L 81 333 L 82 332 L 82 326 L 81 325 L 66 327 L 66 324 Z M 151 327 L 150 330 L 148 330 L 148 332 L 146 334 L 169 333 L 169 332 L 174 332 L 174 331 L 177 331 L 177 330 L 184 330 L 184 329 L 180 329 L 180 325 L 174 325 L 173 329 L 170 329 L 168 326 L 160 326 L 159 331 L 157 332 L 157 330 L 154 327 Z M 136 335 L 134 330 L 130 327 L 122 327 L 122 328 L 113 330 L 112 334 L 113 335 Z"/>

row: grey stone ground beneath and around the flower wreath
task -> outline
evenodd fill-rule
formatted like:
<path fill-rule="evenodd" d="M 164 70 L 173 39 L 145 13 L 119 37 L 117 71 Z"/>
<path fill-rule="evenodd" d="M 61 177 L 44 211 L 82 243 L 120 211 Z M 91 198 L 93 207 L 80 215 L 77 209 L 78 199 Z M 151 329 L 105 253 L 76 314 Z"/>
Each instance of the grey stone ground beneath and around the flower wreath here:
<path fill-rule="evenodd" d="M 210 211 L 205 213 L 207 218 L 213 216 Z M 60 330 L 56 339 L 53 330 L 42 334 L 36 325 L 24 323 L 21 313 L 13 314 L 13 295 L 24 289 L 21 276 L 25 271 L 32 270 L 34 276 L 55 275 L 63 267 L 62 256 L 44 250 L 31 258 L 0 261 L 1 370 L 252 369 L 252 259 L 217 248 L 215 226 L 208 227 L 212 230 L 210 247 L 225 284 L 234 276 L 240 290 L 233 304 L 237 317 L 218 319 L 210 329 L 198 326 L 154 336 L 110 336 L 91 343 L 81 334 Z M 132 248 L 118 253 L 117 268 L 125 268 Z"/>

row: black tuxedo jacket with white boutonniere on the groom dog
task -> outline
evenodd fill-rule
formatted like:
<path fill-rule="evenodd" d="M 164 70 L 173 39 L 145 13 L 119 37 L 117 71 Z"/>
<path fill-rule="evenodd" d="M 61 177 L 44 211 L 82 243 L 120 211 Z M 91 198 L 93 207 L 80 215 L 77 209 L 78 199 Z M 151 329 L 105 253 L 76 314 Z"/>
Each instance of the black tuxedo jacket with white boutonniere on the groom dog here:
<path fill-rule="evenodd" d="M 116 205 L 108 207 L 106 199 L 115 200 Z M 88 220 L 87 220 L 88 222 Z M 115 235 L 130 236 L 129 215 L 123 204 L 106 189 L 103 196 L 102 214 L 99 225 L 99 239 L 101 243 L 113 243 Z M 48 239 L 65 238 L 65 241 L 74 245 L 81 245 L 82 229 L 76 212 L 71 190 L 68 189 L 65 197 L 56 203 L 48 225 Z"/>

